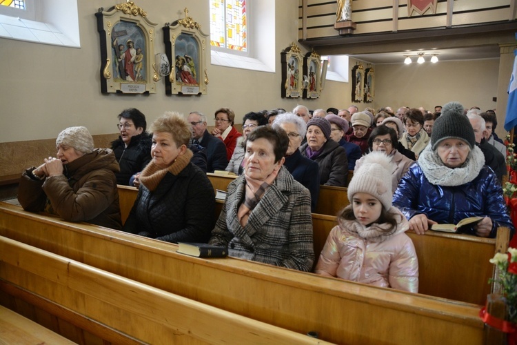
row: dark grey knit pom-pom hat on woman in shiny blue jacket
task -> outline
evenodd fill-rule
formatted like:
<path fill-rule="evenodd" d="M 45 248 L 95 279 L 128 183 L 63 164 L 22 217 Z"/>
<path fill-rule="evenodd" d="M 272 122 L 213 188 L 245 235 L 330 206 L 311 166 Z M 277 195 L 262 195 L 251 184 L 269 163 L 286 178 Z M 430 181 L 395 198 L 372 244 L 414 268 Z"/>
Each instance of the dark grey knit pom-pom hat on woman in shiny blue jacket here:
<path fill-rule="evenodd" d="M 469 144 L 470 148 L 476 145 L 474 129 L 467 116 L 463 114 L 463 106 L 458 102 L 449 102 L 442 108 L 442 115 L 434 121 L 431 134 L 432 149 L 445 139 L 461 139 Z"/>

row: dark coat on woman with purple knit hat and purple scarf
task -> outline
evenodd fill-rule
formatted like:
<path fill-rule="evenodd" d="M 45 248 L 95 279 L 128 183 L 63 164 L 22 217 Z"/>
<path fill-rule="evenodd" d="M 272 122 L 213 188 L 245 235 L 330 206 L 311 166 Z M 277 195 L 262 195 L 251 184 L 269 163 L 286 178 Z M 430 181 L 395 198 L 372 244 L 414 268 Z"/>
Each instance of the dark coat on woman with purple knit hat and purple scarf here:
<path fill-rule="evenodd" d="M 307 157 L 305 149 L 307 144 L 303 144 L 300 152 Z M 309 158 L 309 157 L 307 157 Z M 346 187 L 348 177 L 347 152 L 336 141 L 327 140 L 323 144 L 323 151 L 313 159 L 320 167 L 320 184 L 325 186 Z"/>

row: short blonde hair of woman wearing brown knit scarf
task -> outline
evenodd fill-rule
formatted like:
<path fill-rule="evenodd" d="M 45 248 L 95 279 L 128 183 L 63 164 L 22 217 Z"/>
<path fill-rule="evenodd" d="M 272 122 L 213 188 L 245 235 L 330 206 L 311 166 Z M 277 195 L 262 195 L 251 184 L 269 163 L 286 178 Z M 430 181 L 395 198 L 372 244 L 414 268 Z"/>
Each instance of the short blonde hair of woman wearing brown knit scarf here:
<path fill-rule="evenodd" d="M 152 135 L 154 132 L 170 133 L 177 148 L 181 145 L 188 148 L 190 137 L 192 137 L 190 124 L 183 118 L 183 115 L 175 111 L 164 112 L 161 117 L 154 120 L 149 126 L 148 133 Z"/>

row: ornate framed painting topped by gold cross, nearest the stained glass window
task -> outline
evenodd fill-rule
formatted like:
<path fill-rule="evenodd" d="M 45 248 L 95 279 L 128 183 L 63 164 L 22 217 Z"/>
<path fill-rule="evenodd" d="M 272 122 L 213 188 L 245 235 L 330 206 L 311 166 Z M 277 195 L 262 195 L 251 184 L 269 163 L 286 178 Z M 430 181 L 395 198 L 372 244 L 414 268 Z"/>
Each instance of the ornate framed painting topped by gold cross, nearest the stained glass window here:
<path fill-rule="evenodd" d="M 166 95 L 206 95 L 207 75 L 207 37 L 201 31 L 201 24 L 188 17 L 165 23 L 163 43 L 165 55 L 171 61 L 172 71 L 165 80 Z"/>

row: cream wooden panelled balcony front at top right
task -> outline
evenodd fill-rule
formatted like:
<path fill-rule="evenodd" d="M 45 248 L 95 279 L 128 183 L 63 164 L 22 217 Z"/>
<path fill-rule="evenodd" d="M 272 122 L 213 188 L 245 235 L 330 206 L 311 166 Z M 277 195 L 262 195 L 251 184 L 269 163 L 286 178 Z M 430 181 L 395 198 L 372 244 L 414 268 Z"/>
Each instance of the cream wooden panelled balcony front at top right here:
<path fill-rule="evenodd" d="M 303 0 L 298 6 L 298 39 L 303 39 Z M 398 18 L 394 18 L 394 3 L 398 2 Z M 423 15 L 412 12 L 409 17 L 407 0 L 352 1 L 352 21 L 357 25 L 354 36 L 378 32 L 401 32 L 447 26 L 447 0 L 438 0 L 436 13 L 427 10 Z M 307 0 L 307 37 L 315 39 L 336 37 L 336 1 Z M 452 26 L 476 25 L 508 21 L 511 0 L 455 0 L 452 4 Z"/>

